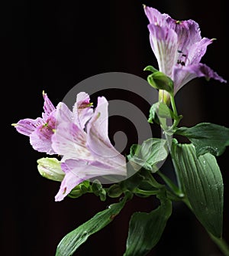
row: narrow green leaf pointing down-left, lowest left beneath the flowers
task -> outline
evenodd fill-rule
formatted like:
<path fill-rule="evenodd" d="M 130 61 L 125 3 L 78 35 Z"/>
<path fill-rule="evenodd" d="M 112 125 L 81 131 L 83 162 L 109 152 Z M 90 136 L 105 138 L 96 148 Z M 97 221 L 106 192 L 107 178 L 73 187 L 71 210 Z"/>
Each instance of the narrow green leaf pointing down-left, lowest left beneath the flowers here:
<path fill-rule="evenodd" d="M 75 230 L 69 232 L 56 248 L 56 256 L 70 256 L 82 245 L 90 235 L 105 228 L 116 215 L 121 211 L 127 202 L 129 195 L 126 195 L 121 202 L 114 203 L 102 212 L 98 212 L 88 222 L 83 223 Z"/>

